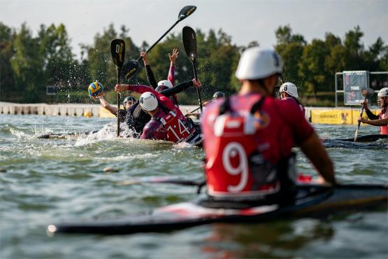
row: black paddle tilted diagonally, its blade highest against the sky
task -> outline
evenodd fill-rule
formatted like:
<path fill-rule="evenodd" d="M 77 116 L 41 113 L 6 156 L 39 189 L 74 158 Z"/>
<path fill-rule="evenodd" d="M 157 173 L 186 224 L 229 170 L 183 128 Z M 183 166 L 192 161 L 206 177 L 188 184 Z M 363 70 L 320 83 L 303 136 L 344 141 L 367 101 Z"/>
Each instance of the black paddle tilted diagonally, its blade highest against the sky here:
<path fill-rule="evenodd" d="M 155 41 L 154 44 L 152 44 L 152 46 L 150 48 L 148 48 L 148 50 L 146 50 L 145 52 L 150 52 L 150 50 L 152 50 L 152 48 L 155 47 L 155 45 L 157 45 L 157 43 L 159 43 L 159 41 L 161 41 L 162 38 L 164 38 L 164 36 L 166 36 L 166 34 L 168 34 L 168 32 L 171 31 L 171 29 L 173 29 L 173 27 L 175 27 L 175 25 L 178 25 L 178 23 L 182 20 L 184 20 L 185 18 L 187 18 L 189 15 L 191 15 L 192 13 L 194 13 L 194 11 L 196 10 L 196 6 L 185 6 L 184 8 L 182 8 L 178 14 L 178 20 L 173 24 L 173 26 L 171 26 L 163 35 L 161 35 L 160 38 L 158 38 L 157 41 Z M 138 62 L 142 59 L 143 57 L 138 57 L 138 59 L 136 60 L 131 60 L 129 63 L 125 64 L 124 66 L 127 66 L 127 69 L 126 69 L 126 73 L 123 73 L 122 74 L 122 78 L 131 78 L 132 76 L 134 76 L 140 66 L 138 64 Z"/>

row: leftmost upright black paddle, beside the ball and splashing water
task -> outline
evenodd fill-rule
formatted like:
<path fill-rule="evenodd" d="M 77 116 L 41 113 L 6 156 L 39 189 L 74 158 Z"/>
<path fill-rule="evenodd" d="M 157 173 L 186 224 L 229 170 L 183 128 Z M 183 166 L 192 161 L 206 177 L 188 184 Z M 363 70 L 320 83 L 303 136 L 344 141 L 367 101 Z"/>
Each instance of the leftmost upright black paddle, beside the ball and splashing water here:
<path fill-rule="evenodd" d="M 120 74 L 122 70 L 122 64 L 124 64 L 125 57 L 125 42 L 116 38 L 110 43 L 110 52 L 112 53 L 113 62 L 117 68 L 117 85 L 120 85 Z M 120 136 L 120 93 L 117 92 L 117 137 Z"/>

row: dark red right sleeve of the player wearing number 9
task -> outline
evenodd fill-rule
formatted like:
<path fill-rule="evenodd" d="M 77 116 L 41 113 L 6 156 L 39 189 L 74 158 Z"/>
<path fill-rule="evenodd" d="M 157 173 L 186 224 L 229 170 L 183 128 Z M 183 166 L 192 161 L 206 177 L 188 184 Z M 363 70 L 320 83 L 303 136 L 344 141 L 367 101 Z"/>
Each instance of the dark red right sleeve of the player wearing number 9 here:
<path fill-rule="evenodd" d="M 286 123 L 291 127 L 292 133 L 297 144 L 303 144 L 314 132 L 314 129 L 308 123 L 303 111 L 299 105 L 292 99 L 279 100 L 279 112 Z"/>

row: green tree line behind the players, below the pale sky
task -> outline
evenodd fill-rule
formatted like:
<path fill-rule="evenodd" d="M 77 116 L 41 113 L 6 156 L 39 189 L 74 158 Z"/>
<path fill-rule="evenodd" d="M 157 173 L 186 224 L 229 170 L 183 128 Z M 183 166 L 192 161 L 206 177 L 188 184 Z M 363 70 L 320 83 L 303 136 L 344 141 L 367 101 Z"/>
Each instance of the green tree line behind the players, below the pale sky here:
<path fill-rule="evenodd" d="M 240 54 L 259 42 L 233 44 L 231 36 L 222 29 L 210 29 L 207 33 L 196 29 L 196 36 L 203 99 L 210 99 L 216 91 L 236 92 L 239 83 L 234 72 Z M 333 92 L 334 75 L 338 71 L 388 71 L 388 45 L 379 37 L 372 45 L 364 46 L 361 41 L 364 33 L 359 26 L 347 31 L 343 38 L 328 32 L 323 39 L 315 38 L 310 43 L 302 35 L 293 34 L 289 25 L 278 27 L 275 36 L 274 47 L 285 64 L 283 78 L 295 83 L 302 96 L 317 97 L 319 92 Z M 126 61 L 136 59 L 149 46 L 145 41 L 136 45 L 124 25 L 117 31 L 110 24 L 94 36 L 92 45 L 80 46 L 80 57 L 77 58 L 62 24 L 41 25 L 34 36 L 26 23 L 15 29 L 0 22 L 0 101 L 46 102 L 46 86 L 56 85 L 59 96 L 66 96 L 66 102 L 91 102 L 87 97 L 87 85 L 93 80 L 99 80 L 106 91 L 112 91 L 117 80 L 115 64 L 110 56 L 113 38 L 124 39 Z M 168 34 L 148 54 L 157 80 L 166 79 L 168 52 L 173 48 L 180 50 L 175 66 L 176 83 L 194 78 L 192 65 L 182 45 L 182 35 Z M 147 84 L 145 69 L 127 83 Z M 372 85 L 380 89 L 387 83 L 387 76 L 382 76 L 375 78 Z M 196 104 L 194 89 L 181 95 L 184 96 L 180 98 L 182 104 Z"/>

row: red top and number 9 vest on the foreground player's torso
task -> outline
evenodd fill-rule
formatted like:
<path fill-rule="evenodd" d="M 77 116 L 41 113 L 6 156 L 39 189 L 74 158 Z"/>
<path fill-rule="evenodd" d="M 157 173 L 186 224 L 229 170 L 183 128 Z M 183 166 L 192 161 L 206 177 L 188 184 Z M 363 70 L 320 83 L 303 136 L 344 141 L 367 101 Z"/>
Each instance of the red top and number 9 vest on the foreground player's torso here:
<path fill-rule="evenodd" d="M 230 97 L 229 106 L 223 113 L 224 101 L 213 102 L 202 118 L 208 195 L 259 200 L 280 192 L 294 141 L 303 143 L 314 130 L 294 100 L 252 93 Z"/>

